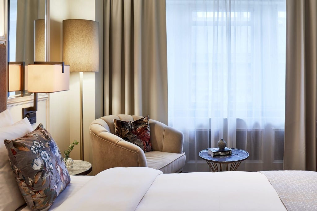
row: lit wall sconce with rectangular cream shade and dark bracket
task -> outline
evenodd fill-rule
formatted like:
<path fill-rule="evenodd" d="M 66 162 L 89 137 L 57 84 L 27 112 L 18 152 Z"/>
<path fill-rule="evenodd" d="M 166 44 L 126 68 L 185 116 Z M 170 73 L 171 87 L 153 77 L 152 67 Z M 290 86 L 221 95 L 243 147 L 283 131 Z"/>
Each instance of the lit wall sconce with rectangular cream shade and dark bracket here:
<path fill-rule="evenodd" d="M 23 108 L 23 118 L 36 122 L 37 93 L 69 90 L 69 65 L 64 62 L 35 62 L 28 65 L 28 92 L 34 92 L 33 107 Z"/>

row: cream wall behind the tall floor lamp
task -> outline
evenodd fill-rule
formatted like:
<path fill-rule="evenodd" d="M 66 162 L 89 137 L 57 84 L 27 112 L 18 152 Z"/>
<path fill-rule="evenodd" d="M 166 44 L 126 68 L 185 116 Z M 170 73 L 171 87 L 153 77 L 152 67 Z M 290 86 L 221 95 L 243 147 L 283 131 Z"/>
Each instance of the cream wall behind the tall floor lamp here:
<path fill-rule="evenodd" d="M 86 19 L 95 20 L 94 0 L 51 0 L 50 1 L 50 61 L 62 61 L 62 20 Z M 102 64 L 102 62 L 100 61 Z M 89 125 L 94 121 L 95 115 L 95 78 L 102 82 L 102 75 L 96 76 L 94 72 L 83 73 L 83 124 L 84 124 L 84 160 L 93 164 L 92 150 L 89 138 Z M 62 92 L 61 92 L 62 93 Z M 79 101 L 79 73 L 70 73 L 69 91 L 63 94 L 50 95 L 50 127 L 52 136 L 57 139 L 64 138 L 59 145 L 61 152 L 74 140 L 80 141 L 80 101 Z M 97 93 L 99 93 L 97 91 Z M 56 94 L 56 95 L 55 95 Z M 102 96 L 102 94 L 99 96 Z M 62 102 L 61 102 L 62 101 Z M 64 102 L 67 101 L 67 102 Z M 103 114 L 102 99 L 98 98 L 98 117 Z M 58 115 L 61 113 L 62 115 Z M 70 157 L 80 159 L 80 146 L 74 147 Z M 93 164 L 94 166 L 94 164 Z"/>

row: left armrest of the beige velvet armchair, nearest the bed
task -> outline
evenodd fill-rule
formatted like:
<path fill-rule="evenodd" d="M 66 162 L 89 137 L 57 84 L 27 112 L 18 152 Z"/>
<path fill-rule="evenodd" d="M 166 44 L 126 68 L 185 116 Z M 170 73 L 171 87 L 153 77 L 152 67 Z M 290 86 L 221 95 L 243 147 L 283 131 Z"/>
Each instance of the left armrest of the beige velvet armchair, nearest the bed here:
<path fill-rule="evenodd" d="M 95 174 L 113 167 L 147 167 L 145 154 L 140 147 L 109 133 L 98 121 L 89 126 Z"/>

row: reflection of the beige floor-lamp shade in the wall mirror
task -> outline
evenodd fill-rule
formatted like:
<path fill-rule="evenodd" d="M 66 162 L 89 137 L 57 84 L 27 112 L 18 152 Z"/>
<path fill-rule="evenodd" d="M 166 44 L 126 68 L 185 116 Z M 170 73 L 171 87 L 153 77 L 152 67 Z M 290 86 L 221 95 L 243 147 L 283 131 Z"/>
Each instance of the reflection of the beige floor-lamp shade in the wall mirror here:
<path fill-rule="evenodd" d="M 34 61 L 45 61 L 45 20 L 34 20 Z"/>

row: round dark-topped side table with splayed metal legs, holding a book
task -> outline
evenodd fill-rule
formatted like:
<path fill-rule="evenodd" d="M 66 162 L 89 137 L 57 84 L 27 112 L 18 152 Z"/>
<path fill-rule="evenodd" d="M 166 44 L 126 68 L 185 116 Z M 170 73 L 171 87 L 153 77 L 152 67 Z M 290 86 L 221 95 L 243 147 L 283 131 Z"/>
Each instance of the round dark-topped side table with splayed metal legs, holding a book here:
<path fill-rule="evenodd" d="M 236 171 L 243 160 L 249 158 L 249 153 L 242 149 L 230 148 L 232 155 L 212 157 L 208 149 L 199 152 L 199 157 L 204 159 L 212 172 Z M 219 166 L 219 167 L 218 167 Z"/>

